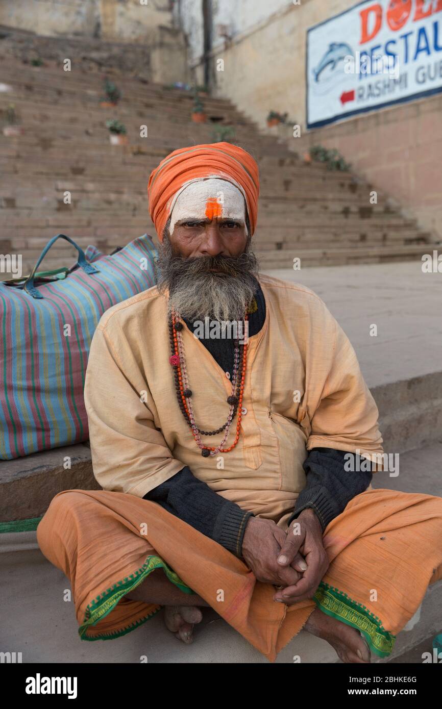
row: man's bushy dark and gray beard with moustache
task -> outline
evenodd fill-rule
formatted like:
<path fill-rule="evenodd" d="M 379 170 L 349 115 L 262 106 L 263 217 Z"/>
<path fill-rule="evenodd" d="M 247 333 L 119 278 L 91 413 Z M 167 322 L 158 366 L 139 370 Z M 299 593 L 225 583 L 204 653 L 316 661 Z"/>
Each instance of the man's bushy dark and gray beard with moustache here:
<path fill-rule="evenodd" d="M 219 269 L 211 272 L 210 269 Z M 168 313 L 187 320 L 243 320 L 257 290 L 258 260 L 250 249 L 233 256 L 185 258 L 164 235 L 156 264 L 158 290 L 169 290 Z"/>

